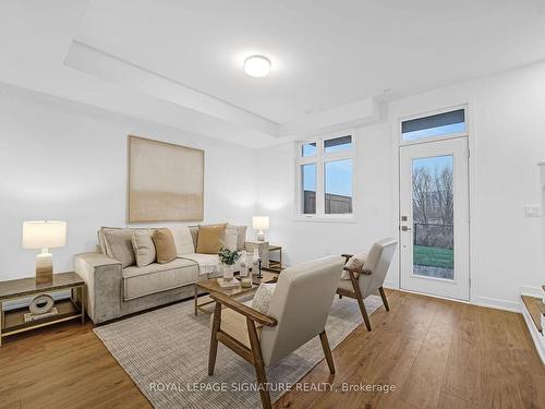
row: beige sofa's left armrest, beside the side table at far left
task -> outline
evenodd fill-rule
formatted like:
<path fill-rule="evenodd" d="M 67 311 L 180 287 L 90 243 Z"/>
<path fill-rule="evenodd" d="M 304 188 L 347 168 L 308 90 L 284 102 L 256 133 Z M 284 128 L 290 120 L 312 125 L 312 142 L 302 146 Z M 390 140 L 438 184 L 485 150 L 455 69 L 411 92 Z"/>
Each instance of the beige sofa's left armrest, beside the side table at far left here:
<path fill-rule="evenodd" d="M 95 324 L 121 315 L 121 262 L 101 253 L 74 256 L 75 272 L 86 284 L 86 311 Z"/>

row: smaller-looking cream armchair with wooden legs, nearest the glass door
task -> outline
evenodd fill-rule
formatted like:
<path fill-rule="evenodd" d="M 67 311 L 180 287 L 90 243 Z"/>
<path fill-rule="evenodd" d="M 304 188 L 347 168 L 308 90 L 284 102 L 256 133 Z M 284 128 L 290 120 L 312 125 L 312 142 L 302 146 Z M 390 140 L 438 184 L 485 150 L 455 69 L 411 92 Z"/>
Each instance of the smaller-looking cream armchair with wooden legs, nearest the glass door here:
<path fill-rule="evenodd" d="M 367 330 L 371 330 L 371 321 L 363 300 L 378 291 L 383 298 L 386 311 L 390 311 L 383 285 L 397 245 L 398 242 L 391 238 L 374 243 L 365 258 L 363 269 L 356 270 L 344 267 L 350 279 L 342 279 L 339 281 L 339 288 L 337 289 L 339 298 L 346 296 L 358 300 Z M 342 254 L 342 256 L 346 258 L 346 262 L 348 262 L 352 255 Z"/>

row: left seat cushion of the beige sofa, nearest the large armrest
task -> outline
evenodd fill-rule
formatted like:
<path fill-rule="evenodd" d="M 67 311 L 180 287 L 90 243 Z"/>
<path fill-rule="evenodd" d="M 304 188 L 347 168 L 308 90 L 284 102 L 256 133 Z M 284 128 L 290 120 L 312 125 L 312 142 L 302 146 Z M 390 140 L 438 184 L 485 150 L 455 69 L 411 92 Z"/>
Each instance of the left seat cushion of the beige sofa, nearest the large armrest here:
<path fill-rule="evenodd" d="M 126 267 L 122 276 L 126 301 L 193 284 L 198 279 L 198 266 L 190 260 L 177 258 L 167 264 Z"/>

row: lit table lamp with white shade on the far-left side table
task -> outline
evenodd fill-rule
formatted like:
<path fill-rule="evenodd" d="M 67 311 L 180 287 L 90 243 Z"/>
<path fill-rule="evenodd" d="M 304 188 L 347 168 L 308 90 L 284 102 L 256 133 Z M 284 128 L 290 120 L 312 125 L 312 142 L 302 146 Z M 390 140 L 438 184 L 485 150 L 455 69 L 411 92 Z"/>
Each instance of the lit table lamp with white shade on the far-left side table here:
<path fill-rule="evenodd" d="M 23 248 L 41 249 L 36 256 L 36 284 L 53 280 L 53 255 L 49 249 L 66 244 L 65 221 L 25 221 L 23 222 Z"/>

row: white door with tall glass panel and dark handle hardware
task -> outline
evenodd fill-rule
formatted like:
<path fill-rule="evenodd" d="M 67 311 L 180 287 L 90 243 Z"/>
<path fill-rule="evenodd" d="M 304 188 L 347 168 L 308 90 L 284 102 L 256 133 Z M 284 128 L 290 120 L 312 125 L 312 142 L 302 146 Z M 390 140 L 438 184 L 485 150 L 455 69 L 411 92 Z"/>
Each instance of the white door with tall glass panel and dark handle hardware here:
<path fill-rule="evenodd" d="M 401 288 L 469 300 L 468 140 L 399 151 Z"/>

